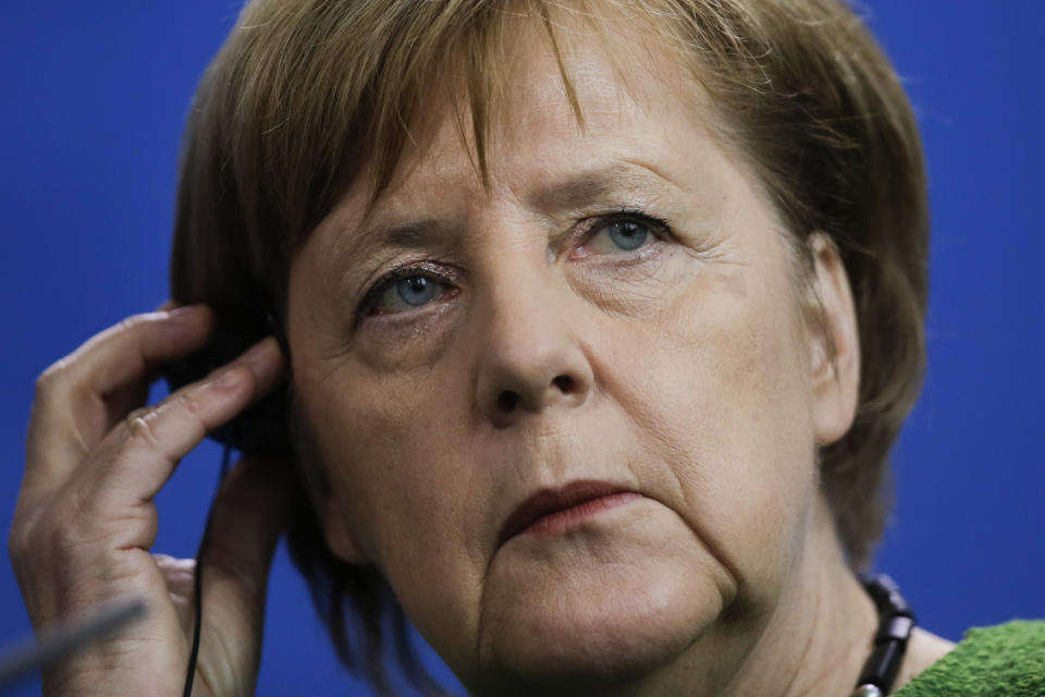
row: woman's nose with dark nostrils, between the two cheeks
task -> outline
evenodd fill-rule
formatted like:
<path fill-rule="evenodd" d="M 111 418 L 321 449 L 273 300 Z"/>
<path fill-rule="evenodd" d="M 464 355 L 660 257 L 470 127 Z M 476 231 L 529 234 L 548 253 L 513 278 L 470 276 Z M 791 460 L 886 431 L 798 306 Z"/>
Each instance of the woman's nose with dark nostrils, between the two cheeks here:
<path fill-rule="evenodd" d="M 514 270 L 488 284 L 476 317 L 480 413 L 499 428 L 526 415 L 583 404 L 591 364 L 569 303 L 543 270 Z"/>

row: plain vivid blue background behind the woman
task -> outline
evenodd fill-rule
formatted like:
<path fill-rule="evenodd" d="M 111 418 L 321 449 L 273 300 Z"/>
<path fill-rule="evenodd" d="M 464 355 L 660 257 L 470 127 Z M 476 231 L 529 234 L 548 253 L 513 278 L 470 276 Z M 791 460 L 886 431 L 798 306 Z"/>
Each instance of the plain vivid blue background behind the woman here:
<path fill-rule="evenodd" d="M 3 0 L 0 8 L 5 525 L 37 374 L 165 297 L 182 124 L 238 5 Z M 1045 3 L 875 0 L 870 8 L 919 112 L 934 221 L 930 370 L 896 452 L 898 505 L 877 565 L 901 584 L 925 627 L 957 639 L 970 625 L 1045 616 Z M 194 554 L 218 460 L 212 445 L 201 447 L 160 494 L 157 551 Z M 28 631 L 4 559 L 0 643 Z M 38 690 L 29 681 L 14 694 Z M 369 694 L 335 664 L 281 550 L 258 694 L 312 690 Z"/>

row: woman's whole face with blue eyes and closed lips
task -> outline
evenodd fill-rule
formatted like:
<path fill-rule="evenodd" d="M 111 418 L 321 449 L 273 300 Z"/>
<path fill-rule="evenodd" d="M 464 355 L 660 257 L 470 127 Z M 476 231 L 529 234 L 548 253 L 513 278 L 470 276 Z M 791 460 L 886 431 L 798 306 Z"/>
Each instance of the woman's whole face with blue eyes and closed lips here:
<path fill-rule="evenodd" d="M 520 44 L 489 186 L 441 107 L 290 289 L 328 539 L 474 689 L 733 646 L 798 573 L 834 408 L 784 234 L 696 88 L 578 39 L 581 127 Z"/>

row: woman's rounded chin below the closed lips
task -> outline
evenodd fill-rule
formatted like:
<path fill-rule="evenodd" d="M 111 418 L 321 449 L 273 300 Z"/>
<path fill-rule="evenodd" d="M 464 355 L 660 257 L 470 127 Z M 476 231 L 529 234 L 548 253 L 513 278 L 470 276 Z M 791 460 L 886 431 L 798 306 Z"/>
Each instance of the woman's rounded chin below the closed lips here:
<path fill-rule="evenodd" d="M 483 599 L 481 677 L 469 687 L 602 694 L 683 657 L 722 613 L 715 564 L 691 534 L 643 527 L 503 550 Z"/>

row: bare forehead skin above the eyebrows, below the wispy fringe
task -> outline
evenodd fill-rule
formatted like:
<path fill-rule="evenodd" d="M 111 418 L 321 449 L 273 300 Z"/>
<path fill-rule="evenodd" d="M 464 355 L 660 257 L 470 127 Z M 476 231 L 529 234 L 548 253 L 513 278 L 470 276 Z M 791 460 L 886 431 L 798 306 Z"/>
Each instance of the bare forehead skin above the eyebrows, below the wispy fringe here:
<path fill-rule="evenodd" d="M 562 160 L 567 143 L 612 137 L 635 152 L 655 150 L 671 140 L 665 130 L 677 127 L 678 117 L 717 142 L 713 110 L 689 66 L 649 23 L 626 22 L 611 7 L 605 16 L 564 12 L 552 23 L 511 16 L 502 27 L 509 40 L 485 57 L 487 74 L 469 74 L 460 56 L 433 70 L 386 181 L 380 161 L 362 162 L 337 208 L 351 205 L 369 218 L 408 201 L 418 181 L 446 182 L 447 163 L 462 150 L 472 184 L 489 189 L 534 162 Z M 663 114 L 675 118 L 659 120 Z"/>

